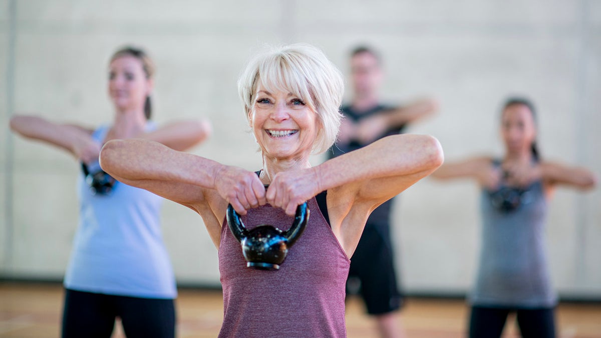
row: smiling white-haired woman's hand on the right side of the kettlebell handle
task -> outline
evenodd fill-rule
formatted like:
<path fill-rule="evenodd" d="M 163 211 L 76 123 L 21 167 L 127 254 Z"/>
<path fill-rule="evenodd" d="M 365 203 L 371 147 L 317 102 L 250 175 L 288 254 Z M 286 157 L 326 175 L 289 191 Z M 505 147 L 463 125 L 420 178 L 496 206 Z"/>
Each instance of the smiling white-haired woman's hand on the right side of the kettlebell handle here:
<path fill-rule="evenodd" d="M 319 176 L 315 168 L 277 173 L 267 189 L 267 203 L 281 207 L 294 216 L 296 207 L 319 194 Z"/>

